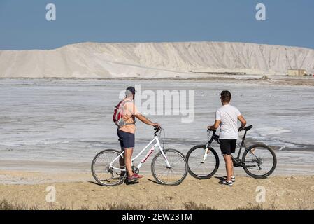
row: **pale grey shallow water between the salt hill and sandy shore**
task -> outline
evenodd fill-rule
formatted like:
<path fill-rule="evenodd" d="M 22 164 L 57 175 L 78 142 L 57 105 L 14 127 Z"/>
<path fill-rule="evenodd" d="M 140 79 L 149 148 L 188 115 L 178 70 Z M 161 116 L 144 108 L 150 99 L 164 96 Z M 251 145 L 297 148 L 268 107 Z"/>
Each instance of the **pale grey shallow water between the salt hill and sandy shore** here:
<path fill-rule="evenodd" d="M 183 116 L 148 116 L 164 127 L 166 148 L 186 153 L 195 144 L 205 143 L 206 127 L 213 123 L 220 106 L 219 94 L 231 90 L 232 104 L 254 125 L 248 132 L 250 141 L 299 152 L 314 149 L 314 87 L 222 81 L 0 79 L 1 160 L 88 163 L 104 148 L 119 148 L 113 107 L 120 91 L 135 84 L 141 84 L 142 91 L 195 91 L 193 123 L 181 123 Z M 139 122 L 137 126 L 139 151 L 152 139 L 152 128 Z M 297 154 L 290 151 L 289 155 Z"/>

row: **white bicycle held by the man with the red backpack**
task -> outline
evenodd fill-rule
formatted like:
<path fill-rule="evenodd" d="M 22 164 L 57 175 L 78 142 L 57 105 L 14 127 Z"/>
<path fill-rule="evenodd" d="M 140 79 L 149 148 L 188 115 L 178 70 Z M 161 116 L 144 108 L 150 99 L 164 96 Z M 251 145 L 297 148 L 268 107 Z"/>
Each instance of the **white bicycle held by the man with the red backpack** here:
<path fill-rule="evenodd" d="M 159 137 L 164 130 L 161 127 L 155 127 L 154 139 L 143 148 L 143 150 L 132 158 L 133 172 L 138 174 L 139 169 L 150 157 L 155 148 L 159 148 L 159 153 L 152 159 L 151 171 L 152 176 L 158 183 L 164 185 L 178 185 L 187 176 L 187 160 L 185 155 L 176 149 L 164 149 L 159 142 Z M 150 151 L 145 155 L 143 160 L 134 166 L 136 160 L 149 146 L 155 143 Z M 164 144 L 164 143 L 163 143 Z M 116 186 L 124 182 L 127 178 L 127 171 L 123 165 L 120 165 L 120 158 L 123 158 L 124 151 L 115 149 L 106 149 L 98 153 L 92 161 L 92 175 L 97 183 L 102 186 Z"/>

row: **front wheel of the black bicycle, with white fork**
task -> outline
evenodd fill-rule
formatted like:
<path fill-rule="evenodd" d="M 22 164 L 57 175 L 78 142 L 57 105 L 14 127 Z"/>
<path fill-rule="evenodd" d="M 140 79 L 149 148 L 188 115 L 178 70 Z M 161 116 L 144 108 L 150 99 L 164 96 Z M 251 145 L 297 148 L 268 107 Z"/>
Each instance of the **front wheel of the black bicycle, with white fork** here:
<path fill-rule="evenodd" d="M 196 179 L 210 179 L 219 167 L 219 158 L 216 151 L 210 147 L 204 159 L 205 151 L 206 145 L 199 145 L 194 146 L 187 153 L 189 174 Z"/>

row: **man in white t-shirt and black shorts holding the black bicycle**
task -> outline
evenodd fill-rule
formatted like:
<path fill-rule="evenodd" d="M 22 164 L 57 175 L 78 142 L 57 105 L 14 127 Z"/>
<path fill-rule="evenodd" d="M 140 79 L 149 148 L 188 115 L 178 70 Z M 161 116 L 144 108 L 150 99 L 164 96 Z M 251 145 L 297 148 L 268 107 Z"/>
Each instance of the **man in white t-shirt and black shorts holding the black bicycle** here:
<path fill-rule="evenodd" d="M 234 163 L 232 162 L 231 153 L 236 151 L 236 140 L 238 139 L 238 131 L 242 130 L 246 125 L 246 121 L 240 111 L 230 105 L 231 93 L 222 91 L 220 94 L 222 107 L 217 109 L 215 124 L 208 126 L 210 130 L 217 130 L 220 127 L 220 149 L 226 162 L 227 179 L 221 183 L 232 186 L 236 180 L 234 176 Z M 241 122 L 241 127 L 238 128 L 238 120 Z"/>

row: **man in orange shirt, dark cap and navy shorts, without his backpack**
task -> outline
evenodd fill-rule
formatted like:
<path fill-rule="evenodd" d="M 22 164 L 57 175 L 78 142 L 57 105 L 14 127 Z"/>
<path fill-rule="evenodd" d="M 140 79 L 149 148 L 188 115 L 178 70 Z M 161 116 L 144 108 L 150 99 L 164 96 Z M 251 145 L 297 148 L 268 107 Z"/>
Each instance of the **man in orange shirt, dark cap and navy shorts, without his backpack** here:
<path fill-rule="evenodd" d="M 134 150 L 134 141 L 135 141 L 135 118 L 138 118 L 138 120 L 141 120 L 146 125 L 152 125 L 154 127 L 160 127 L 158 123 L 152 123 L 148 118 L 145 118 L 145 116 L 141 115 L 141 113 L 138 112 L 135 104 L 134 104 L 134 97 L 135 97 L 136 90 L 134 87 L 127 87 L 127 90 L 125 91 L 125 98 L 124 100 L 124 113 L 123 113 L 123 119 L 126 123 L 126 125 L 120 127 L 117 129 L 117 136 L 119 137 L 121 149 L 124 150 L 124 160 L 123 158 L 120 158 L 120 165 L 126 167 L 128 178 L 127 180 L 129 182 L 136 181 L 143 176 L 134 174 L 132 170 L 132 154 Z"/>

